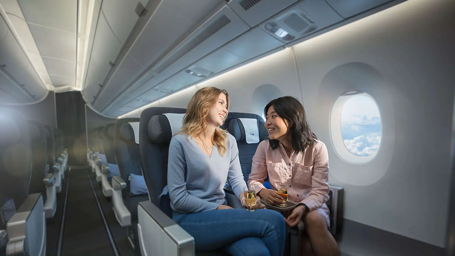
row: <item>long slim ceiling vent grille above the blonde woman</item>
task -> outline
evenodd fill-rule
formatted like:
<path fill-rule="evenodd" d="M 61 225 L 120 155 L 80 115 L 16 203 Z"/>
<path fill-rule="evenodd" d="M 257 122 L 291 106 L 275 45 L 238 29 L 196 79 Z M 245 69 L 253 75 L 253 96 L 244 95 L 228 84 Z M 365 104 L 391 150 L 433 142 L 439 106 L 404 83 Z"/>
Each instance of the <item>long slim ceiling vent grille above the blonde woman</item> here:
<path fill-rule="evenodd" d="M 227 18 L 226 15 L 221 15 L 217 20 L 213 21 L 206 29 L 202 30 L 197 36 L 193 37 L 190 41 L 188 41 L 184 46 L 180 49 L 175 51 L 167 60 L 163 61 L 158 67 L 154 69 L 157 73 L 162 72 L 167 67 L 171 66 L 172 63 L 180 59 L 183 55 L 187 54 L 187 52 L 194 49 L 203 41 L 207 40 L 210 36 L 215 34 L 217 31 L 221 30 L 227 24 L 231 23 L 231 20 Z"/>

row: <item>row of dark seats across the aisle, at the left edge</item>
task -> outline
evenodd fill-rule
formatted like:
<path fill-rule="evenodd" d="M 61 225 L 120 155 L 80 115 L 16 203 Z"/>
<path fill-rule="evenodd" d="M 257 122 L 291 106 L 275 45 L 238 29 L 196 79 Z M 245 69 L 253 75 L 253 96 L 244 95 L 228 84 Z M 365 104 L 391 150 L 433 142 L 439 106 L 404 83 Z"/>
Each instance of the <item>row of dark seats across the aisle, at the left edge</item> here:
<path fill-rule="evenodd" d="M 68 153 L 60 129 L 0 109 L 0 227 L 5 255 L 45 255 L 46 219 L 54 217 Z"/>

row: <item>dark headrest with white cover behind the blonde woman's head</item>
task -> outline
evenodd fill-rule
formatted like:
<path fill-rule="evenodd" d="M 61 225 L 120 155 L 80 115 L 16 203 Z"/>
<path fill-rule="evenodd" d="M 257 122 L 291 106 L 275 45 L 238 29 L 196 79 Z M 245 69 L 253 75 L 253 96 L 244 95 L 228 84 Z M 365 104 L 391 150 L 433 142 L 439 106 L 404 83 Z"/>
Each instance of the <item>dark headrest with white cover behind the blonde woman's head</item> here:
<path fill-rule="evenodd" d="M 148 123 L 148 136 L 152 143 L 168 144 L 182 128 L 185 114 L 165 113 L 154 115 Z"/>

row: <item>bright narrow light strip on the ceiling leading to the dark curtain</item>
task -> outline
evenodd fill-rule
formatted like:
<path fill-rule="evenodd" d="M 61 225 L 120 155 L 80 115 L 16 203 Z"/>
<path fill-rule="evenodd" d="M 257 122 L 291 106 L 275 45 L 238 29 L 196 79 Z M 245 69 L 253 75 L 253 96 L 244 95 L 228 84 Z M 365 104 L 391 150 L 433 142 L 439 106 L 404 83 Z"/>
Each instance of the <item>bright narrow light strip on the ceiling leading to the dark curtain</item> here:
<path fill-rule="evenodd" d="M 96 0 L 79 0 L 77 17 L 76 88 L 83 89 L 87 52 Z"/>

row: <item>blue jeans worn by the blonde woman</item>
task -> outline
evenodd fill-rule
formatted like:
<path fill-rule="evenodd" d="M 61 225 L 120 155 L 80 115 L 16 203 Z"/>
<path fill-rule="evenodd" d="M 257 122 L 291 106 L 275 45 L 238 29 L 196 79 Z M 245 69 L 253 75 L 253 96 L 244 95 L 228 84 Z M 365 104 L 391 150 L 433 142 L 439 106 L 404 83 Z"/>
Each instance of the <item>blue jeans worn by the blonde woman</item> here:
<path fill-rule="evenodd" d="M 286 226 L 274 210 L 209 210 L 176 213 L 173 219 L 194 237 L 196 251 L 221 248 L 233 256 L 283 256 Z"/>

